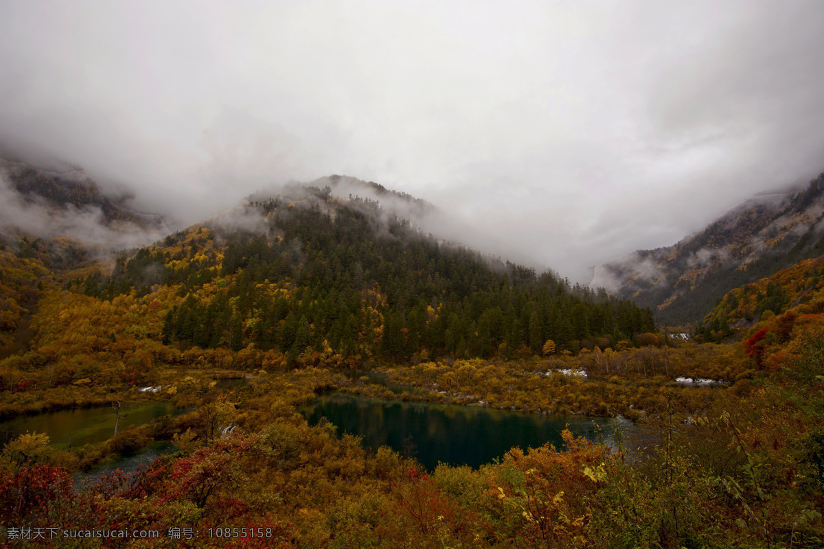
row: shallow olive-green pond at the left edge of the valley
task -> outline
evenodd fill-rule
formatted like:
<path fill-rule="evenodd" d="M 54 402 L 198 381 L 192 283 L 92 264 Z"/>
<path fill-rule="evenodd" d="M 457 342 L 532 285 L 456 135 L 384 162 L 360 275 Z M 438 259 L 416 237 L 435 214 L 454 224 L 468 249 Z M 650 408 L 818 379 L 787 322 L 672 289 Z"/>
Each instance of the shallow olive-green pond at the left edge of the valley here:
<path fill-rule="evenodd" d="M 111 407 L 74 408 L 43 412 L 33 416 L 17 416 L 0 421 L 0 435 L 9 440 L 26 432 L 49 435 L 55 448 L 94 444 L 109 440 L 115 433 L 115 411 Z M 160 416 L 177 416 L 185 410 L 178 410 L 171 402 L 139 402 L 128 412 L 121 412 L 119 430 L 128 426 L 138 426 Z"/>

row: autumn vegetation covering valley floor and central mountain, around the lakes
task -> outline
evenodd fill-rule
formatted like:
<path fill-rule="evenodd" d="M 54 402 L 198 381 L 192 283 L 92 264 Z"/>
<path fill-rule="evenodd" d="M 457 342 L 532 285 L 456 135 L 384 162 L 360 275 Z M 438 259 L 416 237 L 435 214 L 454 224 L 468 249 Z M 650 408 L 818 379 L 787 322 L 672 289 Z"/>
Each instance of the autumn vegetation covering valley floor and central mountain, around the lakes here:
<path fill-rule="evenodd" d="M 76 448 L 7 435 L 7 537 L 160 534 L 10 541 L 18 547 L 824 542 L 816 261 L 739 288 L 734 307 L 724 298 L 705 326 L 719 319 L 742 341 L 709 344 L 674 342 L 649 309 L 438 242 L 328 188 L 257 197 L 121 254 L 110 272 L 82 257 L 54 263 L 59 248 L 42 241 L 4 245 L 2 333 L 18 347 L 0 361 L 0 416 L 149 399 L 185 411 Z M 735 328 L 747 311 L 756 323 Z M 409 390 L 353 379 L 361 369 Z M 240 383 L 220 388 L 226 377 Z M 565 431 L 559 448 L 426 470 L 328 422 L 310 426 L 299 408 L 335 390 L 636 423 L 613 448 Z M 73 482 L 154 441 L 172 449 L 146 468 Z"/>

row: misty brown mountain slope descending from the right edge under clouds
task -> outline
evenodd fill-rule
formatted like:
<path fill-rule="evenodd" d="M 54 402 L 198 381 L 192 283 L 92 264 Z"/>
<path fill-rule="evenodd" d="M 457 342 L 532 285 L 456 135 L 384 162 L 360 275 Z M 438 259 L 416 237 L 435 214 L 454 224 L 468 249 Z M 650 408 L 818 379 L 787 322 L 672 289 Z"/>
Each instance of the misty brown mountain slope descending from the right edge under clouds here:
<path fill-rule="evenodd" d="M 729 290 L 824 254 L 824 174 L 796 193 L 756 196 L 673 246 L 596 270 L 593 285 L 652 307 L 664 323 L 698 322 Z"/>

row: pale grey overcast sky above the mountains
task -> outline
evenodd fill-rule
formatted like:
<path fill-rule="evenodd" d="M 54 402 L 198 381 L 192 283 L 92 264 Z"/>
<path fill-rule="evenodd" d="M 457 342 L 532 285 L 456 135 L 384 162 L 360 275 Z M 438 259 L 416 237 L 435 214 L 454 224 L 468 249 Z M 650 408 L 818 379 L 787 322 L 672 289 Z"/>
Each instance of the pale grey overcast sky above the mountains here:
<path fill-rule="evenodd" d="M 824 2 L 0 0 L 0 141 L 179 224 L 349 174 L 584 269 L 824 170 Z"/>

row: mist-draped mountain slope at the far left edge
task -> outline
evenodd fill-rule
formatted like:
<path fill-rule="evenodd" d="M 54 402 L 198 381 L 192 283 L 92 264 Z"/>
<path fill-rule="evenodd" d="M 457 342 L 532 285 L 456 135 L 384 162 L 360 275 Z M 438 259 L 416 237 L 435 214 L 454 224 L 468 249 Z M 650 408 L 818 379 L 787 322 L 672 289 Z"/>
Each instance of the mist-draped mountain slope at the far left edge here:
<path fill-rule="evenodd" d="M 83 170 L 0 159 L 0 359 L 28 350 L 44 290 L 166 234 L 161 216 L 124 207 Z"/>

